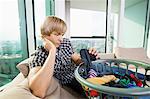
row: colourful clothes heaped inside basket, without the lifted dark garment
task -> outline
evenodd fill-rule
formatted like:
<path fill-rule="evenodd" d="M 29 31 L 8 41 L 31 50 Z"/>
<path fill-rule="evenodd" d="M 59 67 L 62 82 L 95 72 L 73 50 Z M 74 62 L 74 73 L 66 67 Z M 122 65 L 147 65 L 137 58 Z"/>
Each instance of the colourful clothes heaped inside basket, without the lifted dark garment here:
<path fill-rule="evenodd" d="M 144 79 L 150 81 L 148 77 L 146 79 L 144 74 L 135 73 L 116 65 L 108 66 L 105 62 L 101 62 L 93 63 L 87 72 L 87 76 L 84 76 L 84 79 L 97 85 L 116 88 L 135 88 L 145 86 L 149 87 L 150 85 L 144 82 Z M 87 86 L 84 86 L 83 88 L 87 96 L 89 96 L 89 94 L 94 97 L 99 96 L 99 93 L 96 90 L 90 89 Z"/>

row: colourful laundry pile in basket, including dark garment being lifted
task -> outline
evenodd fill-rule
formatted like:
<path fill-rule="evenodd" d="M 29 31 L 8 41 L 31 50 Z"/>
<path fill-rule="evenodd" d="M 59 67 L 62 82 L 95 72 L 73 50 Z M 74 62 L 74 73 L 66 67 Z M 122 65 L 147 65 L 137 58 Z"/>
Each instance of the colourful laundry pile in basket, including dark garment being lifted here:
<path fill-rule="evenodd" d="M 81 49 L 80 55 L 83 61 L 79 69 L 80 76 L 92 84 L 116 88 L 150 87 L 149 84 L 145 83 L 145 81 L 150 81 L 150 75 L 137 73 L 127 68 L 121 68 L 120 64 L 115 62 L 113 64 L 105 60 L 92 62 L 95 61 L 96 58 L 91 56 L 86 49 Z M 83 88 L 87 96 L 99 96 L 96 90 L 88 88 L 87 86 L 83 86 Z M 104 97 L 109 96 L 106 94 L 102 95 L 104 95 Z"/>

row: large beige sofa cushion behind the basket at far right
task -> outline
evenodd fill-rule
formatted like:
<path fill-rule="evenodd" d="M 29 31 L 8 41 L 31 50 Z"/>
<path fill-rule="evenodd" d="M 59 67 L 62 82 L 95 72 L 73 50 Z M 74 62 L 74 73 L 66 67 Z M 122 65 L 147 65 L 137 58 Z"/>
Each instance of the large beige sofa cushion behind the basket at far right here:
<path fill-rule="evenodd" d="M 132 59 L 132 60 L 141 60 L 148 58 L 144 48 L 117 47 L 115 48 L 115 56 L 116 58 Z"/>

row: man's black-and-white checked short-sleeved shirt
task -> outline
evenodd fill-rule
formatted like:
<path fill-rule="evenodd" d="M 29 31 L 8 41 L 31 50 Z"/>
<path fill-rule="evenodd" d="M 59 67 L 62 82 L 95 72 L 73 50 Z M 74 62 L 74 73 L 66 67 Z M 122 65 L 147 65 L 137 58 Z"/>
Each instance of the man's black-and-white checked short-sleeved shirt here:
<path fill-rule="evenodd" d="M 69 39 L 64 38 L 63 43 L 57 48 L 54 77 L 56 77 L 61 84 L 71 83 L 74 78 L 74 70 L 76 65 L 71 60 L 71 55 L 74 53 Z M 30 63 L 30 68 L 36 66 L 43 66 L 49 52 L 43 46 L 39 46 L 35 53 L 33 60 Z"/>

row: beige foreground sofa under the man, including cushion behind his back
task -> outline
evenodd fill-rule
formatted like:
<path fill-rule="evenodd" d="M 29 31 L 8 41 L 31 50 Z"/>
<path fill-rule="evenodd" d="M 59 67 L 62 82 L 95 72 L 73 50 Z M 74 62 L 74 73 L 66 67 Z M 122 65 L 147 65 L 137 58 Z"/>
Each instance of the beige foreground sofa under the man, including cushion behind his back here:
<path fill-rule="evenodd" d="M 0 87 L 0 99 L 40 99 L 34 96 L 28 86 L 28 63 L 32 57 L 20 62 L 20 73 L 8 84 Z M 53 78 L 44 99 L 84 99 L 83 96 L 68 87 L 62 87 Z"/>

